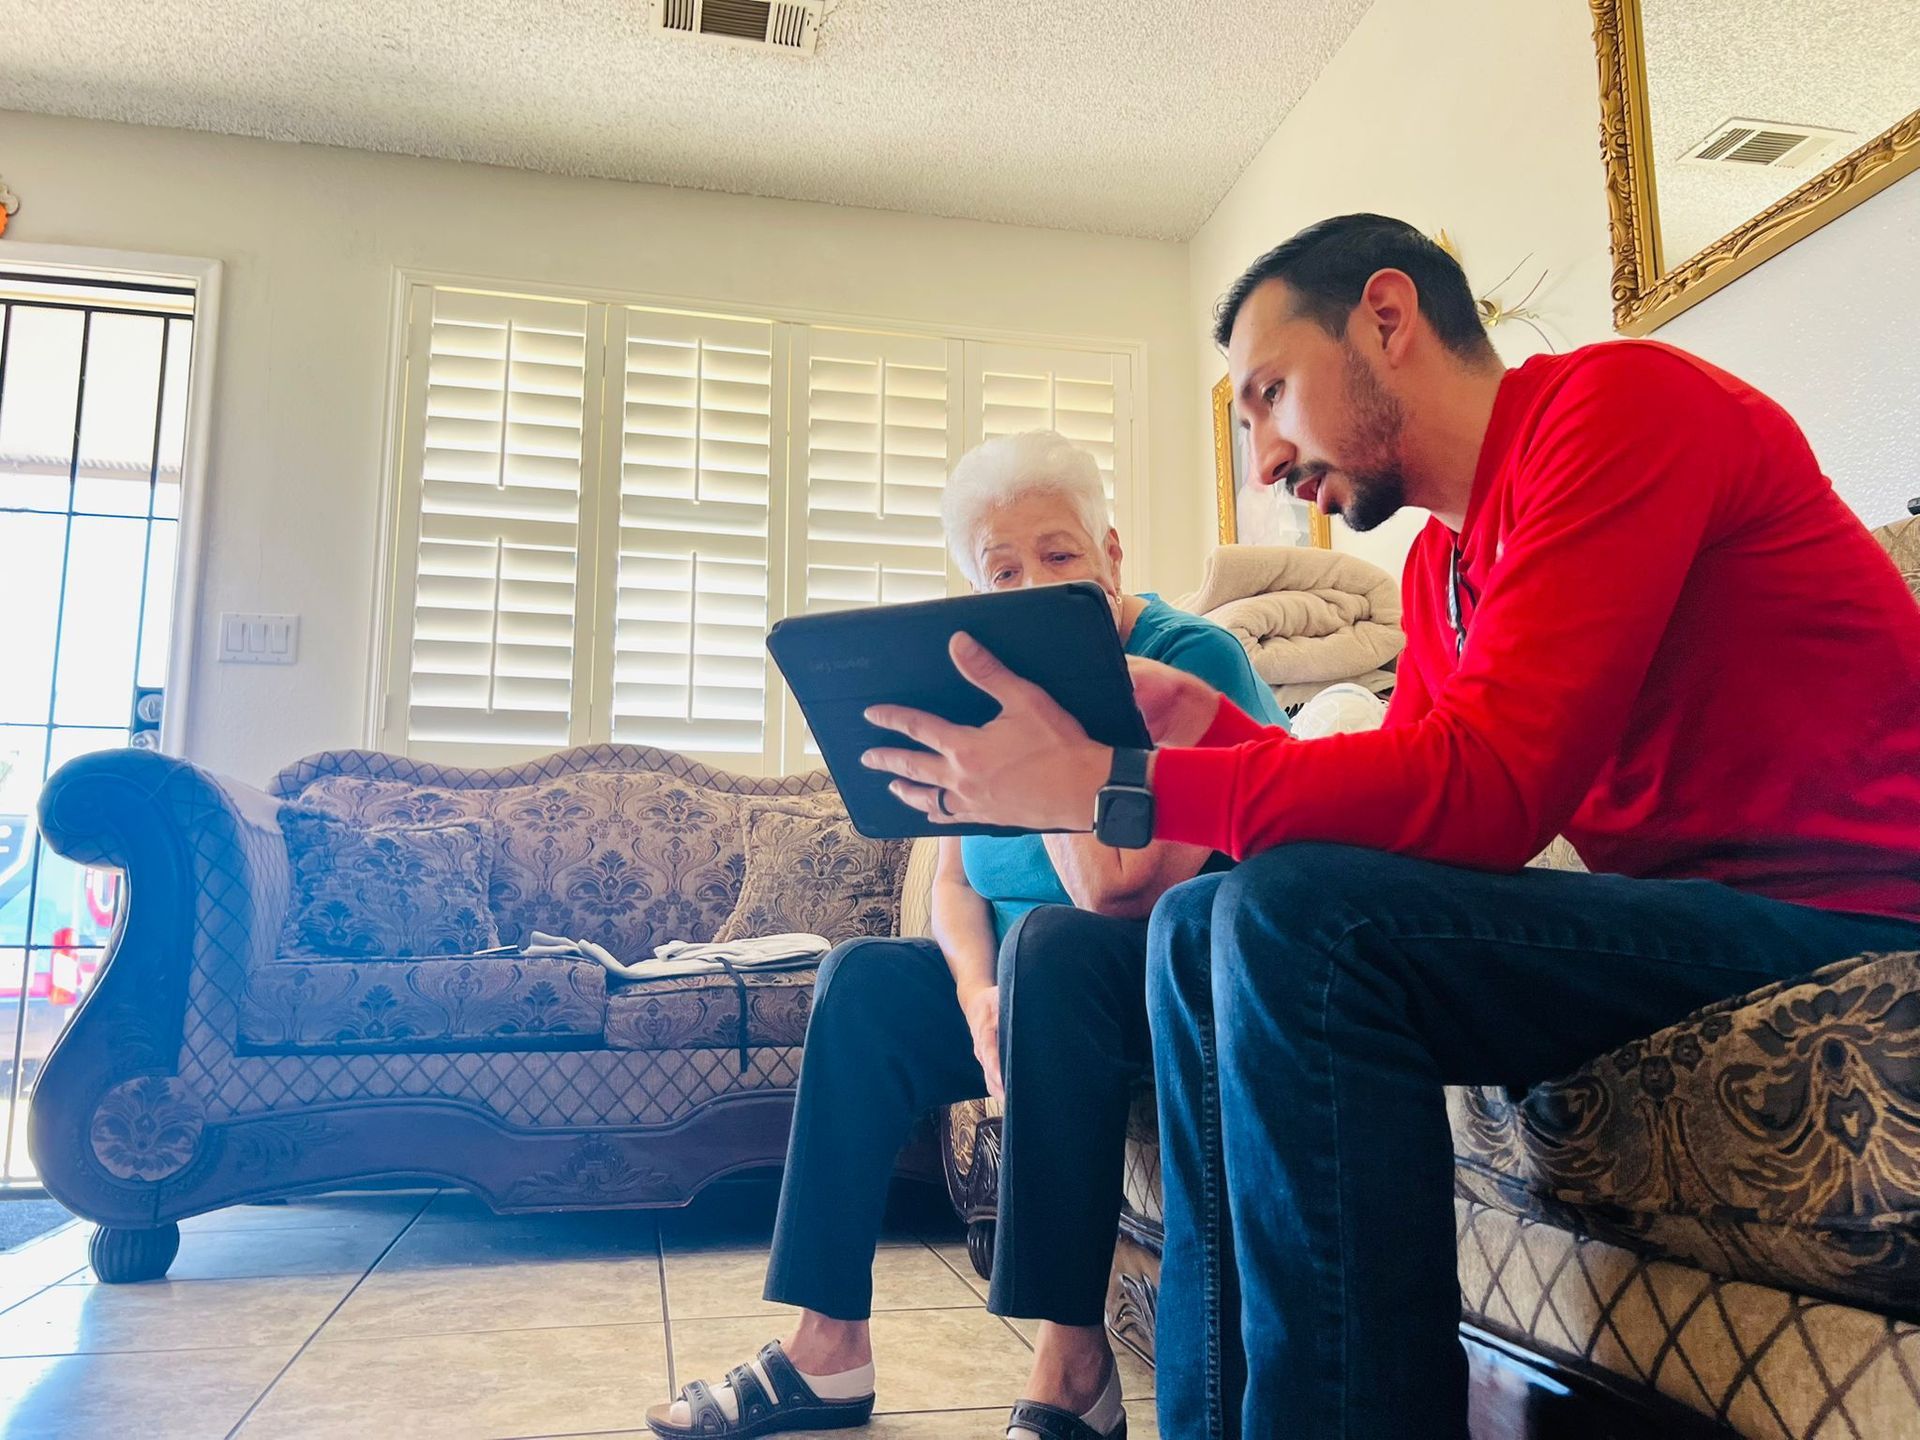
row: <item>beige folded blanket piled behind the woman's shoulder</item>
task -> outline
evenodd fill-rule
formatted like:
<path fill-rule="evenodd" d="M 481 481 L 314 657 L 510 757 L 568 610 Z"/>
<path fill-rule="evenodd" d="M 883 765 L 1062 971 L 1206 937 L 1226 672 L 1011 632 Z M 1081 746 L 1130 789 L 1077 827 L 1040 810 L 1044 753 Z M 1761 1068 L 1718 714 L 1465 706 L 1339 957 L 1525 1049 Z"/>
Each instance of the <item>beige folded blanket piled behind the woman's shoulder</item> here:
<path fill-rule="evenodd" d="M 1407 643 L 1400 584 L 1331 549 L 1221 545 L 1179 605 L 1233 632 L 1275 687 L 1373 678 Z"/>

